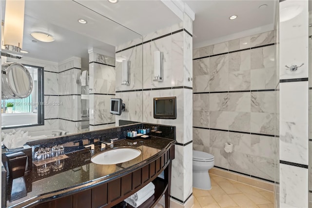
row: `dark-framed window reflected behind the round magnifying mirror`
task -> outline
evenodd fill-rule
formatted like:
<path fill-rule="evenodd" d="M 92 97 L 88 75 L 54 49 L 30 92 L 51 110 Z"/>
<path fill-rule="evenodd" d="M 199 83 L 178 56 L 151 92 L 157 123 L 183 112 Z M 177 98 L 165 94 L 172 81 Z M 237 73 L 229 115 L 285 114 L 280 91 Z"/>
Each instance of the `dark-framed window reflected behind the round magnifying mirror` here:
<path fill-rule="evenodd" d="M 33 79 L 30 96 L 1 100 L 1 128 L 44 125 L 43 67 L 23 64 Z"/>

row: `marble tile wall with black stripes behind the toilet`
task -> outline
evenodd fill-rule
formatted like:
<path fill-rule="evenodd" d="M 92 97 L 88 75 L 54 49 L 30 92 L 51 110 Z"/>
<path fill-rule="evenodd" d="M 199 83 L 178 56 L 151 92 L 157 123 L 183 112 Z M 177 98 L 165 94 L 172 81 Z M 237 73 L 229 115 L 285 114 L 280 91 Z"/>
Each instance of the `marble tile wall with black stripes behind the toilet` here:
<path fill-rule="evenodd" d="M 269 31 L 193 50 L 193 148 L 213 154 L 215 166 L 269 181 L 277 154 L 274 41 Z"/>

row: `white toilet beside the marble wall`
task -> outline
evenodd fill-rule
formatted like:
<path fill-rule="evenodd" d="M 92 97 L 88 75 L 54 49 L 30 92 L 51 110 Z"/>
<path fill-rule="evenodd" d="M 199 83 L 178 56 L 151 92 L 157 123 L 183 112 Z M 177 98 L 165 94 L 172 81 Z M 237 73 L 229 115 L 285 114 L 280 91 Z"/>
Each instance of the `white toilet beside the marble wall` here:
<path fill-rule="evenodd" d="M 206 152 L 193 150 L 193 187 L 211 189 L 208 170 L 215 165 L 215 157 Z"/>

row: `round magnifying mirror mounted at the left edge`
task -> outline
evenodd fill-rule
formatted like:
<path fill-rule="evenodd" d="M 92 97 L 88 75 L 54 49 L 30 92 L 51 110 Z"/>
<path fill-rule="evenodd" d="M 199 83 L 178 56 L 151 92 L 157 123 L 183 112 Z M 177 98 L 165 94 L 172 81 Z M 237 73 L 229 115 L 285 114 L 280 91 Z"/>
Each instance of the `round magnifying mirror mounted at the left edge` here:
<path fill-rule="evenodd" d="M 21 63 L 2 64 L 2 99 L 26 98 L 32 89 L 33 80 Z"/>

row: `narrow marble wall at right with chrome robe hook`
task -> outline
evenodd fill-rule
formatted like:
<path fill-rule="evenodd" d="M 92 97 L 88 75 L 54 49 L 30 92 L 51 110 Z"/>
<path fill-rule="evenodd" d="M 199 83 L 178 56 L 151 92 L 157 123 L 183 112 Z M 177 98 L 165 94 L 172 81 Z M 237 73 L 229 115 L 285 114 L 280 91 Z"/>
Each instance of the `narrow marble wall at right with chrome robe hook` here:
<path fill-rule="evenodd" d="M 300 12 L 284 19 L 284 9 L 290 6 L 300 8 Z M 294 27 L 309 24 L 308 1 L 281 1 L 279 14 L 279 205 L 308 207 L 309 27 Z M 296 71 L 285 67 L 302 63 Z"/>

